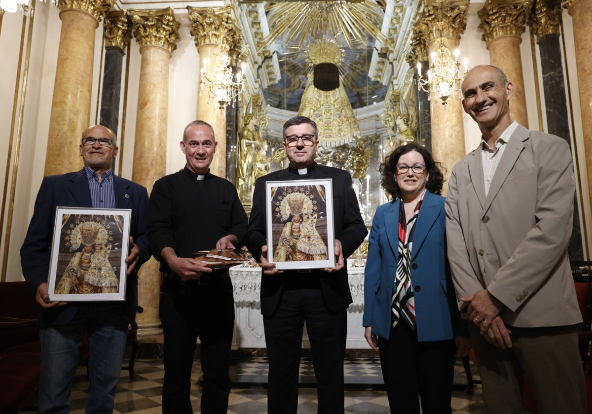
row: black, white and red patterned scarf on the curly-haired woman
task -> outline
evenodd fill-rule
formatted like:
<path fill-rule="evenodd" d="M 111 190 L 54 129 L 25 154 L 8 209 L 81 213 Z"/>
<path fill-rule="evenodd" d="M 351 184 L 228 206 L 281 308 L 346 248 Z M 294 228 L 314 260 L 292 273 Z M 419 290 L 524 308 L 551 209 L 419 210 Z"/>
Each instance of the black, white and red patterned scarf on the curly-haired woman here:
<path fill-rule="evenodd" d="M 411 282 L 411 270 L 409 266 L 411 262 L 411 245 L 413 244 L 415 230 L 414 224 L 417 221 L 419 208 L 422 205 L 424 195 L 425 192 L 422 194 L 419 202 L 417 202 L 417 206 L 413 211 L 413 217 L 408 222 L 405 219 L 403 200 L 400 199 L 397 277 L 392 284 L 393 328 L 397 325 L 398 321 L 403 319 L 411 329 L 415 329 L 415 301 L 413 299 L 413 283 Z"/>

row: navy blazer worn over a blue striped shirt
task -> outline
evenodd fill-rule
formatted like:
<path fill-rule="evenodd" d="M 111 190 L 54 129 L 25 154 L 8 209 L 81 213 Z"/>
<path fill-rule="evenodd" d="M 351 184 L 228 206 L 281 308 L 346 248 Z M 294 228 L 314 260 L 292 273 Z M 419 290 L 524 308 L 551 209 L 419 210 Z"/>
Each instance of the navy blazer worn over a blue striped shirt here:
<path fill-rule="evenodd" d="M 131 322 L 135 318 L 138 303 L 137 270 L 150 258 L 148 239 L 144 230 L 148 193 L 145 187 L 115 175 L 113 190 L 115 206 L 131 209 L 130 235 L 140 249 L 140 260 L 136 264 L 135 271 L 127 277 L 126 302 L 121 302 L 122 312 L 126 315 L 128 322 Z M 58 206 L 92 208 L 91 190 L 83 169 L 73 173 L 44 177 L 41 182 L 33 217 L 21 247 L 22 274 L 34 294 L 37 286 L 46 283 L 48 279 L 53 227 Z M 65 324 L 76 315 L 78 306 L 76 302 L 51 309 L 43 309 L 40 306 L 39 323 L 40 325 Z"/>

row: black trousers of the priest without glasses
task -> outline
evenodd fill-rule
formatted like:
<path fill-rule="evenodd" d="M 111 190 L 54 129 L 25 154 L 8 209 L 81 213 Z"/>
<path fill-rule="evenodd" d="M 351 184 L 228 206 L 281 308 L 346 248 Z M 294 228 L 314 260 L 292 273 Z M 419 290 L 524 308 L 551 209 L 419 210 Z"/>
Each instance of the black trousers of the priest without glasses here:
<path fill-rule="evenodd" d="M 165 334 L 162 412 L 192 413 L 189 389 L 197 338 L 201 342 L 202 414 L 226 414 L 230 393 L 230 347 L 234 297 L 230 278 L 210 279 L 208 286 L 166 280 L 160 296 Z M 195 379 L 197 380 L 197 379 Z"/>

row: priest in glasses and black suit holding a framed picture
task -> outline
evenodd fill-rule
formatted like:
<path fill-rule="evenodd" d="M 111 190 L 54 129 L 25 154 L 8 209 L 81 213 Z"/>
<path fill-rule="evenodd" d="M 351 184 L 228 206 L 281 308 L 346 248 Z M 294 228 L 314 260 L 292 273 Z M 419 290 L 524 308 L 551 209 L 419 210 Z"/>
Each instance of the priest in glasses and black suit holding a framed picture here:
<path fill-rule="evenodd" d="M 352 303 L 346 259 L 368 231 L 345 170 L 318 165 L 317 125 L 307 117 L 284 124 L 287 169 L 260 177 L 244 244 L 260 258 L 261 313 L 269 357 L 268 413 L 295 414 L 303 326 L 306 323 L 317 377 L 318 412 L 343 414 L 343 359 L 347 308 Z M 267 257 L 265 184 L 285 180 L 333 180 L 333 221 L 336 265 L 329 269 L 277 270 Z M 329 253 L 331 254 L 331 252 Z"/>

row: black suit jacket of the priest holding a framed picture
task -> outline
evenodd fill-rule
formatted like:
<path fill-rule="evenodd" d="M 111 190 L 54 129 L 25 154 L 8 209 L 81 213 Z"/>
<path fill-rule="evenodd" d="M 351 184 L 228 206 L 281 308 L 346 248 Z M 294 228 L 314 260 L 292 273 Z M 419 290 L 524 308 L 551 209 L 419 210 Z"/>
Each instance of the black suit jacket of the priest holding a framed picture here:
<path fill-rule="evenodd" d="M 255 182 L 253 207 L 244 244 L 256 260 L 261 257 L 261 247 L 267 244 L 265 183 L 290 179 L 292 178 L 288 169 L 284 169 L 260 177 Z M 360 214 L 358 198 L 353 192 L 352 177 L 346 170 L 316 164 L 315 179 L 332 179 L 335 239 L 341 242 L 343 258 L 348 258 L 368 234 Z M 272 262 L 272 260 L 269 261 Z M 261 313 L 269 316 L 274 313 L 284 291 L 285 274 L 269 276 L 263 274 L 263 271 L 261 274 Z M 327 309 L 336 312 L 348 308 L 353 300 L 349 290 L 347 264 L 342 270 L 335 273 L 319 271 L 319 274 L 321 291 Z"/>

